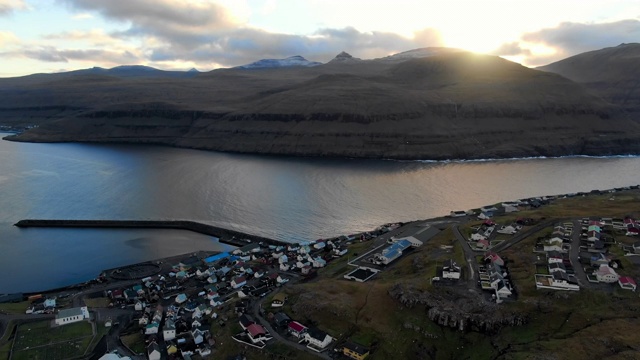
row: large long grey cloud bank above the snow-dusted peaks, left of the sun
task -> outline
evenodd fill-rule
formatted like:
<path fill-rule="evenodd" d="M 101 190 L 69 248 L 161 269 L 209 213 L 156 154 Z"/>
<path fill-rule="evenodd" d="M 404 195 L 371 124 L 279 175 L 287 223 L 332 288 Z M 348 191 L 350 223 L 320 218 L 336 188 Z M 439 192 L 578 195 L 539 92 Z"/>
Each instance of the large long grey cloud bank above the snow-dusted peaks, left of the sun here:
<path fill-rule="evenodd" d="M 123 22 L 126 28 L 109 35 L 128 41 L 142 39 L 141 52 L 153 62 L 191 61 L 201 66 L 236 66 L 261 58 L 302 55 L 328 61 L 340 51 L 372 58 L 417 47 L 440 46 L 434 29 L 413 37 L 391 32 L 361 32 L 355 28 L 324 28 L 309 35 L 272 33 L 240 23 L 219 4 L 170 0 L 59 0 L 82 12 L 97 12 Z"/>

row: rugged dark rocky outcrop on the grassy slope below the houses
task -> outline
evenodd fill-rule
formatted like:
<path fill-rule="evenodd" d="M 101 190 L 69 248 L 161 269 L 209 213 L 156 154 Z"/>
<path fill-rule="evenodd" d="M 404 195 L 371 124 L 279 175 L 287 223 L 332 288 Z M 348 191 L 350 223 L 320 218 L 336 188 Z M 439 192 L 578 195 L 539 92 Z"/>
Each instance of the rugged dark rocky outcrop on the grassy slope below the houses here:
<path fill-rule="evenodd" d="M 525 313 L 507 311 L 468 289 L 436 288 L 427 292 L 396 284 L 389 289 L 389 295 L 406 307 L 424 307 L 431 321 L 461 331 L 495 332 L 527 323 Z"/>

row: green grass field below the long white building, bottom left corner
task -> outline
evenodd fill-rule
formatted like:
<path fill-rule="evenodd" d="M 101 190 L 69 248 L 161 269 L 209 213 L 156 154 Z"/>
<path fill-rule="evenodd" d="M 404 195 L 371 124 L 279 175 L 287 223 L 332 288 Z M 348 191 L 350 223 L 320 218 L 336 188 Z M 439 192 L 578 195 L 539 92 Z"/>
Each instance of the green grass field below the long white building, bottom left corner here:
<path fill-rule="evenodd" d="M 93 339 L 91 324 L 82 321 L 51 327 L 51 321 L 18 326 L 12 359 L 55 360 L 81 356 Z"/>

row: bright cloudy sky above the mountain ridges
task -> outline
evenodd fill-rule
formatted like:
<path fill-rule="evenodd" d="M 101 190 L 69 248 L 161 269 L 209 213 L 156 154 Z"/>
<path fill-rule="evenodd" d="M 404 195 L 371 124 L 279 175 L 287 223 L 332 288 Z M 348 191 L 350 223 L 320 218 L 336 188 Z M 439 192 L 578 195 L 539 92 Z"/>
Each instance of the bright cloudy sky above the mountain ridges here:
<path fill-rule="evenodd" d="M 445 46 L 535 67 L 640 42 L 639 0 L 0 0 L 0 77 Z"/>

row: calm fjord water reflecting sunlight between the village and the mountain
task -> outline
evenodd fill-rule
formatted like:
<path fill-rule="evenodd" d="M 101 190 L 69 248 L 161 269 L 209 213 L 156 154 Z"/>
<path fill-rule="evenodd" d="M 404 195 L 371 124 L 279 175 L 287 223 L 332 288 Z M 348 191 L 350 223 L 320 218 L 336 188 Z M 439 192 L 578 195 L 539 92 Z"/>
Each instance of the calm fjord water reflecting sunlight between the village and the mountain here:
<path fill-rule="evenodd" d="M 285 241 L 371 230 L 498 201 L 635 185 L 640 158 L 401 162 L 158 146 L 0 141 L 0 293 L 226 250 L 174 230 L 18 229 L 24 218 L 191 219 Z"/>

